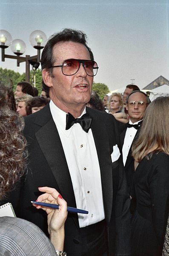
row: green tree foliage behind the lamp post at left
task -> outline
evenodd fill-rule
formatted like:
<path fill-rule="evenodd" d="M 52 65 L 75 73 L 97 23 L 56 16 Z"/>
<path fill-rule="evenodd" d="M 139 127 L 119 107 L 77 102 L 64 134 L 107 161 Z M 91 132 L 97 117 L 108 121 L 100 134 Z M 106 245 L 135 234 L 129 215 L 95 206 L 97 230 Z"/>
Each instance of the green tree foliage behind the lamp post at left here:
<path fill-rule="evenodd" d="M 3 69 L 0 68 L 0 73 L 5 75 L 6 77 L 9 77 L 12 80 L 13 83 L 13 90 L 15 91 L 15 88 L 17 86 L 18 82 L 22 82 L 25 81 L 26 79 L 26 74 L 20 74 L 19 72 L 14 72 L 13 70 L 10 69 Z M 35 77 L 35 79 L 34 79 Z M 32 84 L 32 86 L 34 86 L 34 81 L 36 84 L 36 88 L 39 91 L 39 95 L 42 91 L 42 74 L 41 74 L 41 70 L 38 68 L 36 71 L 30 71 L 30 83 Z"/>

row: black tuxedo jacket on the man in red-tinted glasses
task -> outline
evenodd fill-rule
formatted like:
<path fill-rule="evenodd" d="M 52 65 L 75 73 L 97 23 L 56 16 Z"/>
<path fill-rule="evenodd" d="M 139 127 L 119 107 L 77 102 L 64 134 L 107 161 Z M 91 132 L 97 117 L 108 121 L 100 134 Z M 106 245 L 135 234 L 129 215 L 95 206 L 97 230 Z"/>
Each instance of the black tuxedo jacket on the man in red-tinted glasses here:
<path fill-rule="evenodd" d="M 91 129 L 100 165 L 110 255 L 129 255 L 130 215 L 126 177 L 121 159 L 114 163 L 111 160 L 113 145 L 118 144 L 116 121 L 112 115 L 91 108 L 86 107 L 86 112 L 92 117 Z M 76 207 L 66 157 L 49 104 L 25 118 L 24 135 L 28 142 L 28 171 L 8 201 L 13 204 L 17 217 L 33 222 L 48 234 L 46 212 L 37 210 L 30 203 L 41 194 L 38 187 L 56 188 L 68 206 Z M 81 255 L 80 240 L 78 216 L 69 212 L 64 246 L 69 256 Z"/>

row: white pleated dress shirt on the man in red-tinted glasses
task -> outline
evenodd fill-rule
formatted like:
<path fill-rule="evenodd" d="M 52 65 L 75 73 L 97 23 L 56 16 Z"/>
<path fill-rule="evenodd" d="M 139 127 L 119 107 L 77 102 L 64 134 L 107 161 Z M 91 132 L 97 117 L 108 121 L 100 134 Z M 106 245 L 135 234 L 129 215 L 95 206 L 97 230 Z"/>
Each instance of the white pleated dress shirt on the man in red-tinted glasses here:
<path fill-rule="evenodd" d="M 79 225 L 86 227 L 95 224 L 102 221 L 105 215 L 100 166 L 92 129 L 87 133 L 77 123 L 66 130 L 66 112 L 52 100 L 49 105 L 66 156 L 77 208 L 89 211 L 88 215 L 78 213 Z M 86 108 L 82 115 L 85 113 Z"/>

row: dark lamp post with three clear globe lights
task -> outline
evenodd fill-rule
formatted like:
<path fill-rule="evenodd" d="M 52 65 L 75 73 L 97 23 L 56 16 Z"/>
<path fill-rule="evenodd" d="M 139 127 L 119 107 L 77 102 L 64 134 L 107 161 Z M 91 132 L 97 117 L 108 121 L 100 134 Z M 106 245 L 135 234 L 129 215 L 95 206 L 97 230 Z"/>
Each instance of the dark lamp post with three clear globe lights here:
<path fill-rule="evenodd" d="M 44 48 L 46 44 L 47 37 L 44 32 L 40 30 L 35 30 L 31 33 L 29 37 L 29 41 L 31 45 L 37 49 L 37 55 L 30 56 L 26 55 L 22 57 L 22 55 L 26 51 L 26 44 L 20 40 L 15 39 L 12 41 L 11 35 L 6 30 L 0 30 L 0 48 L 2 52 L 2 62 L 5 61 L 5 58 L 9 59 L 17 59 L 17 67 L 20 66 L 21 62 L 26 62 L 26 82 L 29 82 L 30 79 L 30 64 L 36 70 L 40 65 L 40 50 Z M 5 54 L 5 49 L 11 46 L 11 50 L 16 55 L 8 55 Z"/>

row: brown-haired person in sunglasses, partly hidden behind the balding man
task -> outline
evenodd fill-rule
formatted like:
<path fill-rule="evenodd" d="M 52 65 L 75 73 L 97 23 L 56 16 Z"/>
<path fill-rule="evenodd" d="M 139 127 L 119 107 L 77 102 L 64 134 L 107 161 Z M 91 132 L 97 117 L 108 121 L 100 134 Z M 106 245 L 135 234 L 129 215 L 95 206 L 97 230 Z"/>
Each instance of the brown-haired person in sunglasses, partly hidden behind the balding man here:
<path fill-rule="evenodd" d="M 129 115 L 126 110 L 126 97 L 132 92 L 132 91 L 140 91 L 137 85 L 126 85 L 125 91 L 122 93 L 123 97 L 123 108 L 121 113 L 115 113 L 114 117 L 116 118 L 117 121 L 126 124 L 129 122 Z"/>

